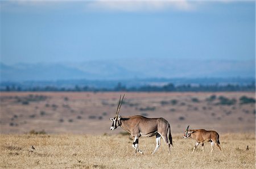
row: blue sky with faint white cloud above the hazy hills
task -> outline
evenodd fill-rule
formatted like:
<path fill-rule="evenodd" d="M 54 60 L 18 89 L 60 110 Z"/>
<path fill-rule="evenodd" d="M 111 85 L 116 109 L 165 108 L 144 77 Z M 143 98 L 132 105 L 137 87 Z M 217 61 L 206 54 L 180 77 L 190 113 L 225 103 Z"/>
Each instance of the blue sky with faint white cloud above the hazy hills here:
<path fill-rule="evenodd" d="M 255 60 L 254 1 L 1 1 L 1 62 Z"/>

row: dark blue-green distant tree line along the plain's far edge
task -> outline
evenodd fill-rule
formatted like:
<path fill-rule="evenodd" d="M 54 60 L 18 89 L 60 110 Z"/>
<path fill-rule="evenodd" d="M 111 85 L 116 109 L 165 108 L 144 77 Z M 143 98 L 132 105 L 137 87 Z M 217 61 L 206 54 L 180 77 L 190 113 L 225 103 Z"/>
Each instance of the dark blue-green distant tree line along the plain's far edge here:
<path fill-rule="evenodd" d="M 182 84 L 175 86 L 172 83 L 168 83 L 164 86 L 141 86 L 141 87 L 126 87 L 121 83 L 118 83 L 114 88 L 96 88 L 89 86 L 74 86 L 74 87 L 57 87 L 57 86 L 36 86 L 36 87 L 22 87 L 22 86 L 2 86 L 0 91 L 137 91 L 137 92 L 186 92 L 186 91 L 255 91 L 255 82 L 246 85 L 239 84 L 207 84 L 193 86 L 191 84 Z"/>

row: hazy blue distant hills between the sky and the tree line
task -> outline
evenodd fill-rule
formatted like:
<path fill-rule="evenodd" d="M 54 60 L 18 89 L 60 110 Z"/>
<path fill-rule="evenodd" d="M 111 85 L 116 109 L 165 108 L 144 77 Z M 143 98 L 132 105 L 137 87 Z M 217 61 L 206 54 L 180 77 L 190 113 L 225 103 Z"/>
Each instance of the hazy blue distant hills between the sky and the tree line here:
<path fill-rule="evenodd" d="M 60 64 L 1 63 L 1 81 L 255 77 L 255 61 L 119 59 Z"/>

